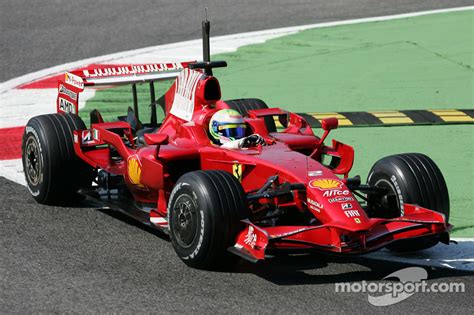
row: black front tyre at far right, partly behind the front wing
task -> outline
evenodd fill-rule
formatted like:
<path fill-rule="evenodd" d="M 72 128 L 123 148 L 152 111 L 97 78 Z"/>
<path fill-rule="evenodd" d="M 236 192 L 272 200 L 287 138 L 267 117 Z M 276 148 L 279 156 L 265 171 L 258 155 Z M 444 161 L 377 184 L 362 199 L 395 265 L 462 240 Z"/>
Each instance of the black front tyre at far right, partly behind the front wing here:
<path fill-rule="evenodd" d="M 388 156 L 377 161 L 367 178 L 369 185 L 389 189 L 387 196 L 374 200 L 369 206 L 380 211 L 376 217 L 394 218 L 404 214 L 403 204 L 416 204 L 440 212 L 449 220 L 449 194 L 441 171 L 428 156 L 406 153 Z M 375 201 L 383 207 L 375 206 Z M 388 249 L 396 252 L 417 251 L 430 248 L 439 238 L 408 239 L 392 243 Z"/>

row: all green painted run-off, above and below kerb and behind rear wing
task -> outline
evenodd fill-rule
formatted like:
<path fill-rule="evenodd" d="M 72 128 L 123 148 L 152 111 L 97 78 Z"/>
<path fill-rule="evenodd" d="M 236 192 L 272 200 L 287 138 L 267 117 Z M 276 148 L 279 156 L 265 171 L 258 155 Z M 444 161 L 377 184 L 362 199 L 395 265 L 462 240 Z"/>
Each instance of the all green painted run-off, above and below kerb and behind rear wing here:
<path fill-rule="evenodd" d="M 474 106 L 474 10 L 307 30 L 215 56 L 223 99 L 257 97 L 296 112 L 454 109 Z M 170 83 L 156 85 L 157 96 Z M 149 117 L 148 86 L 138 88 L 140 117 Z M 82 115 L 125 115 L 131 87 L 98 91 Z M 88 117 L 85 117 L 88 119 Z M 315 130 L 320 133 L 320 130 Z M 420 152 L 443 172 L 454 236 L 474 237 L 474 127 L 344 128 L 354 146 L 353 175 L 363 179 L 383 156 Z"/>

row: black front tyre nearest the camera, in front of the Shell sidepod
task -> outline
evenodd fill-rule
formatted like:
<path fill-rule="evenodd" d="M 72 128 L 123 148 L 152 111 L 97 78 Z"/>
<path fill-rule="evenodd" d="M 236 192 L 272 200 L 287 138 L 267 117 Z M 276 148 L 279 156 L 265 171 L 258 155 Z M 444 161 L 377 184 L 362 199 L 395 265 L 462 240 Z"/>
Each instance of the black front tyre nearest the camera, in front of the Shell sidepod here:
<path fill-rule="evenodd" d="M 227 251 L 248 218 L 245 193 L 225 171 L 195 171 L 178 180 L 168 203 L 171 243 L 188 266 L 215 269 L 229 262 Z"/>

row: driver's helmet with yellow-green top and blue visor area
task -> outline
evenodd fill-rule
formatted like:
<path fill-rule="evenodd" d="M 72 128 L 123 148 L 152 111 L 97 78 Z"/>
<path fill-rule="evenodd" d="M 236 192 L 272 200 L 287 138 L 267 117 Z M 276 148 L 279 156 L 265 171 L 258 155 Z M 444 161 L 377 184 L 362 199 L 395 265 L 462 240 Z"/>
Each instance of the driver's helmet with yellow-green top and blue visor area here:
<path fill-rule="evenodd" d="M 233 109 L 221 109 L 212 115 L 209 132 L 215 143 L 224 144 L 245 137 L 242 115 Z"/>

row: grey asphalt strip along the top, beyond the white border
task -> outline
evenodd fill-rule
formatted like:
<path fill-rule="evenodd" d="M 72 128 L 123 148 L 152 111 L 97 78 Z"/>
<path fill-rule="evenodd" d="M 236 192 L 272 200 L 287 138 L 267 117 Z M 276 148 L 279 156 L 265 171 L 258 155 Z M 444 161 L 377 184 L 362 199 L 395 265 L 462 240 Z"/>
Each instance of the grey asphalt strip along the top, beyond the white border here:
<path fill-rule="evenodd" d="M 472 5 L 472 0 L 2 0 L 0 82 L 66 62 L 212 35 Z"/>

